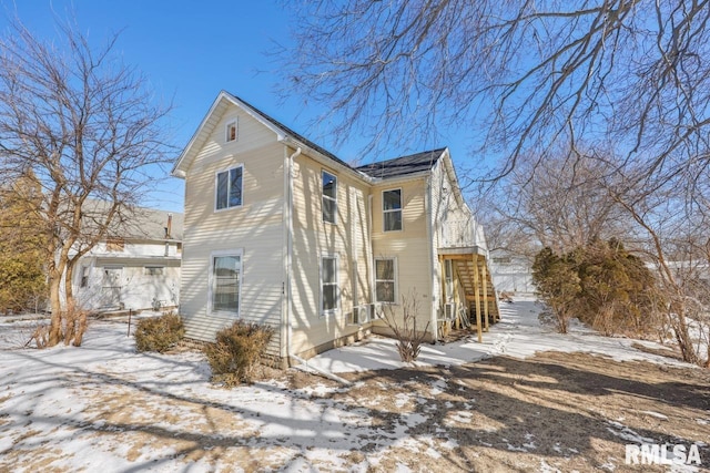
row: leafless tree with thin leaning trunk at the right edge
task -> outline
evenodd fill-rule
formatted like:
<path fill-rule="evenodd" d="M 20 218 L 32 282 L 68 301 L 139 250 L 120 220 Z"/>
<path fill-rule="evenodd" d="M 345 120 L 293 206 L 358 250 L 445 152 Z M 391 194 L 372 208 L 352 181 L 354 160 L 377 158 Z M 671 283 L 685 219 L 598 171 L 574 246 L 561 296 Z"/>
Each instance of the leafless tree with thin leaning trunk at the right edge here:
<path fill-rule="evenodd" d="M 707 189 L 690 188 L 710 182 L 707 171 L 679 172 L 671 178 L 631 174 L 608 187 L 645 243 L 645 259 L 658 270 L 667 321 L 683 360 L 706 367 L 710 366 L 710 219 L 702 198 Z"/>

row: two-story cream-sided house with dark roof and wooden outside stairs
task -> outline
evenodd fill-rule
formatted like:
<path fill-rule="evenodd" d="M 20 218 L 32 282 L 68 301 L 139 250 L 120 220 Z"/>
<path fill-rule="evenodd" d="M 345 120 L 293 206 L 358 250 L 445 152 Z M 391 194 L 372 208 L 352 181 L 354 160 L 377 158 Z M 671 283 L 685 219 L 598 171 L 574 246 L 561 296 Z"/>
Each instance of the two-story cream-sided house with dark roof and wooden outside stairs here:
<path fill-rule="evenodd" d="M 432 340 L 471 306 L 497 316 L 484 233 L 447 148 L 355 168 L 221 92 L 173 175 L 185 179 L 189 338 L 270 323 L 272 354 L 292 361 L 386 333 L 377 316 L 400 317 L 403 298 Z"/>

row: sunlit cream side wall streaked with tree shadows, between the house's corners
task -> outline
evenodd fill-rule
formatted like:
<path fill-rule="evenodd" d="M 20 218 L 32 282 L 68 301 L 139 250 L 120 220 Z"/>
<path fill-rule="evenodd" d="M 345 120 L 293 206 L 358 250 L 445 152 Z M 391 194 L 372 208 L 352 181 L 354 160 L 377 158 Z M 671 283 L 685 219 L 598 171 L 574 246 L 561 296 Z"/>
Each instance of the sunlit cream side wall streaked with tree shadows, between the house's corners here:
<path fill-rule="evenodd" d="M 337 177 L 337 223 L 323 222 L 321 172 Z M 367 218 L 368 186 L 302 155 L 294 169 L 293 339 L 295 353 L 353 335 L 347 325 L 357 304 L 372 300 L 372 247 Z M 339 310 L 321 316 L 320 257 L 338 258 Z"/>

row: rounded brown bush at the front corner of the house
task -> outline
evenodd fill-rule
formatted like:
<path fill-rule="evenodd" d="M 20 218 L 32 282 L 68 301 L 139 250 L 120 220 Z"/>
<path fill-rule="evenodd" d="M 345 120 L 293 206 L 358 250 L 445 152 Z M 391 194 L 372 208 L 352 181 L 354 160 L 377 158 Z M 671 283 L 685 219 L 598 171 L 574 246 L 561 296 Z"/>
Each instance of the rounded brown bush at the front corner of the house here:
<path fill-rule="evenodd" d="M 220 330 L 216 342 L 203 349 L 212 369 L 212 381 L 227 388 L 252 382 L 273 333 L 270 326 L 243 320 Z"/>

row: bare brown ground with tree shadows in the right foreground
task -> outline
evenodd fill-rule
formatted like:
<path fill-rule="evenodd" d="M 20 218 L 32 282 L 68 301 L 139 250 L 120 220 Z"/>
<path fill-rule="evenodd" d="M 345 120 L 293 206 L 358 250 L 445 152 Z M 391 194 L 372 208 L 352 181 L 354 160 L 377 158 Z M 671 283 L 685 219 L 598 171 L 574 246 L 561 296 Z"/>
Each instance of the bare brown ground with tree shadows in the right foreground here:
<path fill-rule="evenodd" d="M 655 443 L 702 442 L 700 455 L 710 466 L 708 370 L 545 352 L 528 360 L 498 357 L 447 370 L 353 378 L 367 382 L 362 392 L 338 394 L 346 402 L 427 392 L 427 384 L 449 380 L 436 397 L 402 410 L 423 409 L 429 419 L 418 433 L 458 444 L 443 459 L 398 452 L 398 462 L 407 457 L 407 464 L 425 470 L 667 471 L 625 464 L 625 445 L 636 435 Z M 388 404 L 383 410 L 397 412 Z"/>

